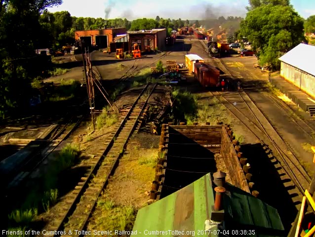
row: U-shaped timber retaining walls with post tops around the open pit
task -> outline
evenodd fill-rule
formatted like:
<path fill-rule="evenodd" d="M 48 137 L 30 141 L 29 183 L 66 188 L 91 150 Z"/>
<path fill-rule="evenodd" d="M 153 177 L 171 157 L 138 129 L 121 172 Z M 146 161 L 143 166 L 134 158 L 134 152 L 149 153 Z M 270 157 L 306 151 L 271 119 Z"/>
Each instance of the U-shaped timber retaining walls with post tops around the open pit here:
<path fill-rule="evenodd" d="M 247 193 L 251 193 L 250 180 L 252 175 L 250 174 L 250 167 L 246 167 L 246 158 L 243 158 L 240 152 L 240 146 L 235 140 L 233 131 L 229 125 L 208 125 L 193 126 L 184 125 L 172 125 L 162 124 L 161 135 L 159 141 L 159 152 L 158 152 L 158 164 L 156 167 L 155 180 L 152 183 L 152 189 L 150 193 L 150 199 L 158 200 L 162 191 L 164 184 L 165 171 L 167 166 L 167 153 L 168 153 L 168 143 L 170 134 L 169 130 L 176 130 L 180 134 L 194 140 L 201 146 L 207 148 L 212 153 L 220 153 L 224 159 L 225 165 L 228 169 L 231 181 L 233 185 L 242 189 Z M 253 191 L 252 195 L 256 196 L 259 193 Z"/>

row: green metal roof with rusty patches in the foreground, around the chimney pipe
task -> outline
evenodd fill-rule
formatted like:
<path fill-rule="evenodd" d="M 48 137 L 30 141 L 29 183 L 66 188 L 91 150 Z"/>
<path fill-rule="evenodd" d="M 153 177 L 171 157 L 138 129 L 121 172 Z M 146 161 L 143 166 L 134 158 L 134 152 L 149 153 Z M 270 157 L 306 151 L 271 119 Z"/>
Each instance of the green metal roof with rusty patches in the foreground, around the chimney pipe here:
<path fill-rule="evenodd" d="M 185 188 L 141 208 L 133 227 L 133 236 L 217 236 L 216 230 L 221 230 L 221 233 L 229 230 L 229 234 L 226 233 L 229 236 L 240 235 L 240 232 L 236 234 L 236 229 L 254 230 L 255 234 L 247 232 L 246 236 L 285 236 L 275 208 L 235 186 L 228 184 L 226 188 L 224 222 L 219 227 L 212 227 L 211 233 L 202 233 L 214 205 L 210 175 L 206 174 Z"/>

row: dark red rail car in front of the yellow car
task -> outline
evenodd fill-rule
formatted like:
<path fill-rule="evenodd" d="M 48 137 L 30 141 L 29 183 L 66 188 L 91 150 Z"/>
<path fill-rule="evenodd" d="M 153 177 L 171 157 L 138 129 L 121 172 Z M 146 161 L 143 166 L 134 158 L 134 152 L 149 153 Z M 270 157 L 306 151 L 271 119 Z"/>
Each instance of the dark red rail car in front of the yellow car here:
<path fill-rule="evenodd" d="M 220 71 L 206 63 L 195 63 L 195 77 L 203 87 L 217 89 L 220 85 Z"/>

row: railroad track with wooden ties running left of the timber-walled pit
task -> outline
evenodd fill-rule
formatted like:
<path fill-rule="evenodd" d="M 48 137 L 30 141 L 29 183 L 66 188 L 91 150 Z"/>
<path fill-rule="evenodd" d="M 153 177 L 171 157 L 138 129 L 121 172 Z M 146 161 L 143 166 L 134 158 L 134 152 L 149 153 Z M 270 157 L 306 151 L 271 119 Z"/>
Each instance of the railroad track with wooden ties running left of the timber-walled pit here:
<path fill-rule="evenodd" d="M 143 111 L 148 109 L 148 100 L 156 86 L 157 84 L 148 83 L 134 104 L 122 111 L 125 116 L 119 123 L 116 132 L 112 133 L 112 138 L 107 140 L 106 148 L 100 148 L 97 156 L 92 158 L 91 163 L 94 166 L 87 170 L 84 177 L 81 177 L 72 194 L 68 198 L 60 200 L 62 210 L 45 227 L 45 230 L 52 233 L 51 237 L 60 236 L 60 232 L 65 232 L 66 235 L 69 234 L 68 236 L 72 237 L 80 236 L 79 232 L 74 233 L 73 230 L 82 231 L 86 227 L 97 199 L 105 188 L 109 176 L 114 172 L 129 137 L 136 129 Z"/>

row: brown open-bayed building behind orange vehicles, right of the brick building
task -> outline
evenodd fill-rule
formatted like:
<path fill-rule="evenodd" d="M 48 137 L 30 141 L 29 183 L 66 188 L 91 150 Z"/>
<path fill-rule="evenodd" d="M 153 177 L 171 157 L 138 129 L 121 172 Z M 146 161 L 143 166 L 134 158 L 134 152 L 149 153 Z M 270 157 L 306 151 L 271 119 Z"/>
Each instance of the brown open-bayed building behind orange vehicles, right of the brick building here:
<path fill-rule="evenodd" d="M 153 29 L 148 31 L 129 31 L 129 50 L 132 51 L 132 43 L 139 42 L 141 51 L 145 51 L 146 46 L 151 50 L 158 47 L 159 50 L 165 49 L 166 29 Z"/>

